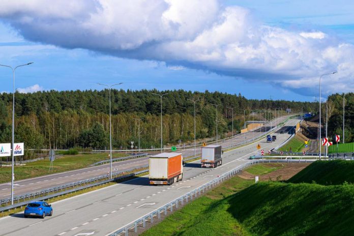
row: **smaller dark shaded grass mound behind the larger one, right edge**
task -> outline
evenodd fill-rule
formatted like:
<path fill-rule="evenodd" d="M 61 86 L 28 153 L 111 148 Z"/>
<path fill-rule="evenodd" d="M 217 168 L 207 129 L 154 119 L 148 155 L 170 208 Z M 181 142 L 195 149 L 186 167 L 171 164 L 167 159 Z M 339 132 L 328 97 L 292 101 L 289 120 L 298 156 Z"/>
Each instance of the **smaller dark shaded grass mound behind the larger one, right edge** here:
<path fill-rule="evenodd" d="M 354 161 L 316 161 L 288 180 L 288 183 L 312 182 L 321 185 L 354 183 Z"/>

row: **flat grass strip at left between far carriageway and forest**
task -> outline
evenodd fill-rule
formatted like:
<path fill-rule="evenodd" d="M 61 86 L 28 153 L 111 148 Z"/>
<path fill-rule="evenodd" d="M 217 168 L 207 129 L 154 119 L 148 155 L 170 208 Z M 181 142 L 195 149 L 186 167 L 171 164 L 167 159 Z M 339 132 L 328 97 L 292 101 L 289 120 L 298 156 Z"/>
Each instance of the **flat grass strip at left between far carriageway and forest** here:
<path fill-rule="evenodd" d="M 113 154 L 112 158 L 119 158 L 127 156 L 126 154 Z M 53 172 L 58 173 L 81 169 L 90 166 L 91 164 L 108 159 L 107 153 L 100 154 L 86 154 L 86 155 L 68 155 L 53 161 Z M 3 162 L 6 164 L 6 162 Z M 23 180 L 34 178 L 37 176 L 47 175 L 49 170 L 50 161 L 48 159 L 26 163 L 23 166 L 15 166 L 15 180 Z M 3 166 L 0 168 L 0 183 L 11 181 L 11 166 Z"/>

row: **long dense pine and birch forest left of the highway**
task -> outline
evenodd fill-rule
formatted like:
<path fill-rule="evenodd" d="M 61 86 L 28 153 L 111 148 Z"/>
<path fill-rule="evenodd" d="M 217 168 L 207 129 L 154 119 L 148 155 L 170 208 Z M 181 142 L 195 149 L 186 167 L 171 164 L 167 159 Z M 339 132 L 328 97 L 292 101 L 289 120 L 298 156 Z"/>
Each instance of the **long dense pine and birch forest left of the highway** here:
<path fill-rule="evenodd" d="M 163 141 L 178 143 L 194 138 L 194 103 L 196 102 L 196 137 L 214 137 L 216 108 L 218 107 L 218 133 L 221 138 L 231 132 L 233 109 L 234 133 L 252 119 L 250 110 L 291 108 L 292 112 L 314 111 L 312 102 L 249 100 L 239 95 L 205 91 L 111 91 L 112 139 L 115 148 L 129 148 L 130 141 L 138 141 L 140 121 L 140 146 L 160 146 L 160 97 L 162 98 Z M 257 111 L 265 116 L 264 111 Z M 12 94 L 0 94 L 0 142 L 11 142 Z M 47 91 L 32 94 L 15 94 L 15 141 L 25 142 L 27 148 L 70 149 L 71 147 L 108 147 L 109 90 L 102 91 Z"/>

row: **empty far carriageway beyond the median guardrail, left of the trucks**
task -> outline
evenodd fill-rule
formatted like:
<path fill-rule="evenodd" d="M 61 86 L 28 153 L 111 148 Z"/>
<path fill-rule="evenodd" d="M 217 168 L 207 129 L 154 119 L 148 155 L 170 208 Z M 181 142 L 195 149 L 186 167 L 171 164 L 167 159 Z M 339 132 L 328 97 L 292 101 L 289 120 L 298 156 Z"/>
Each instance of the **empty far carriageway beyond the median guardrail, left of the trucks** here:
<path fill-rule="evenodd" d="M 282 123 L 287 119 L 288 116 L 278 117 L 275 121 L 272 121 L 272 127 Z M 288 130 L 292 126 L 287 125 L 283 127 L 282 130 Z M 245 142 L 249 142 L 249 140 L 261 136 L 265 131 L 271 129 L 271 124 L 265 124 L 263 127 L 255 129 L 252 132 L 247 132 L 244 134 L 235 135 L 231 139 L 227 140 L 219 140 L 219 144 L 222 146 L 230 146 L 230 145 L 240 145 Z M 200 147 L 197 147 L 196 153 L 197 155 L 201 152 Z M 186 149 L 179 150 L 179 153 L 182 153 L 184 157 L 188 157 L 194 155 L 194 149 Z M 140 166 L 148 165 L 149 158 L 143 157 L 133 160 L 115 162 L 112 164 L 113 172 L 124 171 L 132 168 L 137 168 Z M 115 169 L 115 170 L 114 170 Z M 109 164 L 100 165 L 90 168 L 78 169 L 73 171 L 67 171 L 62 173 L 56 173 L 51 175 L 45 175 L 38 178 L 27 179 L 16 181 L 14 183 L 14 195 L 21 195 L 25 193 L 33 193 L 37 192 L 41 189 L 47 189 L 54 186 L 62 186 L 64 184 L 69 184 L 81 180 L 86 180 L 90 178 L 94 178 L 95 176 L 100 176 L 109 173 Z M 16 176 L 16 172 L 15 172 Z M 11 183 L 0 184 L 0 199 L 9 198 L 11 196 Z"/>

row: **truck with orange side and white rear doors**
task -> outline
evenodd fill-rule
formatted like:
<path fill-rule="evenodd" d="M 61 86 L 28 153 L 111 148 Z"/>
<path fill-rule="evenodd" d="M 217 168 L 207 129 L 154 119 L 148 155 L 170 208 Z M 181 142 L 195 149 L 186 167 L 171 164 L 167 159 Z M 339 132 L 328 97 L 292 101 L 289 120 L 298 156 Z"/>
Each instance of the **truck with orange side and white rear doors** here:
<path fill-rule="evenodd" d="M 149 180 L 152 185 L 171 185 L 183 178 L 181 153 L 161 153 L 149 158 Z"/>

